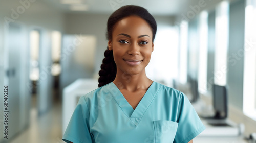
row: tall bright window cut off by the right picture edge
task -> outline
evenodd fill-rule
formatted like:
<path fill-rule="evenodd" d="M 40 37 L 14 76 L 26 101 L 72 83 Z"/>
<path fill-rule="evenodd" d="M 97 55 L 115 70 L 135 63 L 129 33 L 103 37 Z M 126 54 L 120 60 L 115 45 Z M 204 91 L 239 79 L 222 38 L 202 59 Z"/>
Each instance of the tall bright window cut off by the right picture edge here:
<path fill-rule="evenodd" d="M 243 112 L 256 120 L 256 5 L 247 1 L 245 8 Z"/>

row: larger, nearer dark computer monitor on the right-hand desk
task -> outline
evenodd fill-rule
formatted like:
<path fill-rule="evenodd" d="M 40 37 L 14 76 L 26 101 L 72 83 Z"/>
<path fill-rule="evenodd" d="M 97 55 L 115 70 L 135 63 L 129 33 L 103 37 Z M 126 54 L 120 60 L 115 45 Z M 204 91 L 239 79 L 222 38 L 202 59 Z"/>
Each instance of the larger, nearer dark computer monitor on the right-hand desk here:
<path fill-rule="evenodd" d="M 214 84 L 213 90 L 213 104 L 215 110 L 214 118 L 224 119 L 227 118 L 227 87 Z"/>

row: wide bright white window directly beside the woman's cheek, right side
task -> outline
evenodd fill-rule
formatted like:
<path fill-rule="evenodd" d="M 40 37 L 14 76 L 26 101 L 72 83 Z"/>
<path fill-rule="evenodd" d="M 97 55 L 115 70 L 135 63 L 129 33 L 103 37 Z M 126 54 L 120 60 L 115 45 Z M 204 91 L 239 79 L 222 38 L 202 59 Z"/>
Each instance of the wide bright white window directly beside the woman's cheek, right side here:
<path fill-rule="evenodd" d="M 151 61 L 146 67 L 148 78 L 172 86 L 172 80 L 178 75 L 178 41 L 178 32 L 174 27 L 158 28 Z"/>

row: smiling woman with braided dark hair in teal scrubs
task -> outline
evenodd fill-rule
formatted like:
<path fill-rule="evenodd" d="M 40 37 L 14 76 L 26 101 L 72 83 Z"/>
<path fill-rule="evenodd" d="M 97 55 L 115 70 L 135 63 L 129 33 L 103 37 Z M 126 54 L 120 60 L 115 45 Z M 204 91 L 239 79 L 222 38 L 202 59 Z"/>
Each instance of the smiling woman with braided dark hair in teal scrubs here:
<path fill-rule="evenodd" d="M 108 19 L 99 88 L 82 96 L 66 142 L 192 142 L 205 127 L 180 91 L 147 78 L 156 21 L 128 5 Z M 164 52 L 164 51 L 163 51 Z"/>

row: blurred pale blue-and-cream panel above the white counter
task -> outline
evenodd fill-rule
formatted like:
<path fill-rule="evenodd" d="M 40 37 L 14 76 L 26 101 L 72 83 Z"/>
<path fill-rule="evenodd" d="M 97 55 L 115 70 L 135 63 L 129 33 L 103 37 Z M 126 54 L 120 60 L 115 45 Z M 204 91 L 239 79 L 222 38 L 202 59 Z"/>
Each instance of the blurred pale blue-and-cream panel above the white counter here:
<path fill-rule="evenodd" d="M 96 38 L 91 35 L 63 35 L 60 90 L 79 78 L 92 78 Z"/>

